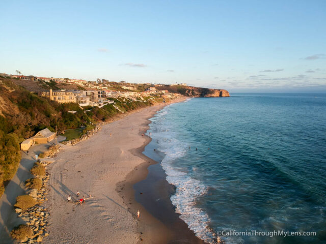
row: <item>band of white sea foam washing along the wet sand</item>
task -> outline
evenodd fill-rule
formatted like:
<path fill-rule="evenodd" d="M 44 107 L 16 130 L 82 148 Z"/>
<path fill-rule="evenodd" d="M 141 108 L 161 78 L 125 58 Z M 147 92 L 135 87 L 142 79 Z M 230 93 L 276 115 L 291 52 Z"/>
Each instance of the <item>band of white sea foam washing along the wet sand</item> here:
<path fill-rule="evenodd" d="M 189 147 L 186 143 L 175 139 L 175 132 L 164 115 L 169 108 L 165 108 L 152 118 L 151 129 L 156 133 L 153 138 L 157 142 L 158 150 L 165 153 L 162 168 L 166 171 L 167 181 L 176 187 L 176 193 L 171 197 L 176 212 L 180 218 L 193 230 L 199 238 L 213 243 L 213 233 L 207 228 L 210 219 L 206 212 L 196 207 L 196 199 L 207 192 L 201 181 L 192 178 L 184 169 L 175 164 L 175 160 L 184 156 Z"/>

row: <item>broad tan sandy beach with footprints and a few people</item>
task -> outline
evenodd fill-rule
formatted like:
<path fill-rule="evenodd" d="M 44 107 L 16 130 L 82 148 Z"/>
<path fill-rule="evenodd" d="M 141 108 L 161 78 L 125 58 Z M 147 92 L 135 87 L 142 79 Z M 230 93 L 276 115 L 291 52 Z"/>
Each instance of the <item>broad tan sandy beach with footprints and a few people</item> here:
<path fill-rule="evenodd" d="M 171 228 L 135 201 L 133 190 L 133 184 L 145 179 L 147 167 L 155 163 L 142 154 L 150 142 L 142 134 L 148 129 L 148 118 L 164 106 L 129 114 L 104 125 L 88 140 L 64 147 L 48 166 L 50 191 L 45 206 L 50 224 L 44 243 L 177 243 Z M 68 195 L 73 202 L 83 195 L 92 197 L 80 205 L 68 203 Z M 190 242 L 202 243 L 182 223 L 180 232 Z"/>

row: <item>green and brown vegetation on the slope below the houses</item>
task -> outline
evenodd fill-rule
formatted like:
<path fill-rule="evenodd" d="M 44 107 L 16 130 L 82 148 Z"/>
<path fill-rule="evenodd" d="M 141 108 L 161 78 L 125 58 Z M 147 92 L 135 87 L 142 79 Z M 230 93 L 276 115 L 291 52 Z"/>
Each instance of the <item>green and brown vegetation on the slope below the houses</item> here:
<path fill-rule="evenodd" d="M 147 102 L 113 100 L 115 106 L 124 112 L 162 101 L 160 98 Z M 76 113 L 69 113 L 69 110 Z M 20 143 L 24 139 L 44 128 L 53 132 L 57 127 L 60 132 L 84 126 L 86 132 L 98 121 L 112 120 L 121 114 L 112 104 L 85 110 L 76 103 L 49 101 L 16 85 L 12 79 L 0 77 L 0 196 L 19 166 Z"/>

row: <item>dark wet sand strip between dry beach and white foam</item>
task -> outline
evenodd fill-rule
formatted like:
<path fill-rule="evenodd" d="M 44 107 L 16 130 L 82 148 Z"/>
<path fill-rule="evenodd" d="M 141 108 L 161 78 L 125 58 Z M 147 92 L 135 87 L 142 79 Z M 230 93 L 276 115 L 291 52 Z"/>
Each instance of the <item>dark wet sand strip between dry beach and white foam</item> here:
<path fill-rule="evenodd" d="M 183 102 L 185 100 L 182 100 L 180 102 Z M 165 106 L 162 106 L 160 109 L 158 109 L 156 112 L 160 111 L 162 108 Z M 156 113 L 155 112 L 155 113 Z M 152 118 L 154 115 L 150 116 L 149 118 Z M 144 131 L 148 131 L 149 129 L 149 124 L 151 121 L 147 118 L 146 123 L 144 123 Z M 140 132 L 141 134 L 141 132 Z M 139 158 L 143 158 L 144 163 L 133 169 L 127 176 L 128 180 L 123 180 L 121 182 L 118 182 L 117 184 L 117 192 L 120 193 L 120 196 L 123 199 L 134 199 L 135 202 L 140 203 L 144 209 L 152 216 L 152 218 L 155 218 L 161 222 L 161 224 L 164 225 L 164 229 L 162 227 L 159 227 L 160 229 L 158 230 L 158 226 L 153 227 L 152 223 L 149 224 L 148 222 L 148 217 L 146 218 L 146 221 L 140 221 L 139 225 L 139 233 L 143 233 L 142 236 L 144 237 L 143 239 L 148 239 L 146 234 L 148 231 L 149 233 L 149 239 L 152 239 L 150 236 L 154 235 L 155 236 L 155 243 L 205 243 L 203 240 L 199 239 L 194 231 L 190 230 L 188 228 L 188 225 L 179 218 L 180 214 L 177 214 L 175 212 L 175 207 L 172 205 L 172 202 L 170 200 L 171 195 L 175 193 L 175 188 L 173 185 L 169 184 L 168 181 L 166 180 L 166 174 L 164 170 L 162 169 L 160 163 L 158 160 L 154 160 L 153 158 L 149 157 L 148 155 L 144 154 L 145 153 L 145 147 L 148 146 L 148 144 L 152 141 L 152 138 L 144 135 L 146 138 L 146 141 L 142 146 L 139 148 L 134 148 L 131 149 L 130 152 L 132 155 L 137 156 Z M 157 196 L 155 199 L 153 198 L 155 194 L 148 193 L 148 188 L 146 186 L 140 186 L 137 187 L 141 182 L 148 183 L 147 178 L 149 177 L 149 174 L 151 174 L 151 170 L 149 170 L 149 167 L 155 167 L 159 168 L 159 176 L 158 177 L 152 177 L 149 182 L 151 184 L 156 184 L 156 181 L 159 181 L 159 186 L 156 186 L 154 190 L 159 192 L 158 199 L 164 201 L 160 201 L 159 204 L 157 204 Z M 146 185 L 146 184 L 145 184 Z M 157 184 L 156 184 L 157 185 Z M 124 187 L 124 190 L 121 190 L 121 187 Z M 138 195 L 139 194 L 139 195 Z M 140 196 L 145 197 L 146 200 L 139 201 L 140 198 L 137 197 Z M 151 207 L 148 207 L 145 205 L 144 202 L 149 200 L 151 198 L 150 203 L 152 204 Z M 124 201 L 125 203 L 128 203 L 127 201 Z M 137 211 L 135 209 L 135 211 Z M 162 212 L 163 211 L 163 212 Z M 142 211 L 141 211 L 142 212 Z M 164 217 L 163 217 L 164 216 Z M 151 227 L 149 227 L 151 226 Z M 157 232 L 157 233 L 152 233 L 152 232 Z M 164 232 L 164 234 L 162 234 Z M 145 237 L 146 236 L 146 237 Z M 147 242 L 146 242 L 147 243 Z"/>

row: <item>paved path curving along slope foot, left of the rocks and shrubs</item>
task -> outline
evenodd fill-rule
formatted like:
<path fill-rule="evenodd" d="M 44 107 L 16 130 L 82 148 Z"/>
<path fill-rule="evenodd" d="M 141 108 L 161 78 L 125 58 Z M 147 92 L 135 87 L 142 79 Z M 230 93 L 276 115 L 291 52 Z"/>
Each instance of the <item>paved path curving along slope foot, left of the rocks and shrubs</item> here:
<path fill-rule="evenodd" d="M 65 137 L 58 136 L 58 141 L 63 140 L 65 140 Z M 15 226 L 25 223 L 25 221 L 17 216 L 14 210 L 16 197 L 26 194 L 25 181 L 33 176 L 30 173 L 30 169 L 36 162 L 35 155 L 39 155 L 46 151 L 47 148 L 52 145 L 52 142 L 55 142 L 55 140 L 50 143 L 39 144 L 31 147 L 29 149 L 29 155 L 27 155 L 25 151 L 20 151 L 21 160 L 17 172 L 10 180 L 5 188 L 4 195 L 0 199 L 0 243 L 13 243 L 10 231 Z"/>

